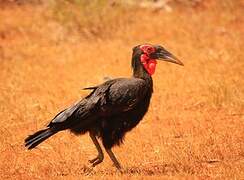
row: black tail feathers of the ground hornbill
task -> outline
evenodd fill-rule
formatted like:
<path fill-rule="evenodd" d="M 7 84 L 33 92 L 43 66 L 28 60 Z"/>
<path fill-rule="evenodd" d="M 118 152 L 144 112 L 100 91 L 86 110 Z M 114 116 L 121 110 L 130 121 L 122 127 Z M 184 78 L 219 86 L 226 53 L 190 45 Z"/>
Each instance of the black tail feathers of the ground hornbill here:
<path fill-rule="evenodd" d="M 27 147 L 28 149 L 33 149 L 34 147 L 36 147 L 37 145 L 39 145 L 47 138 L 51 137 L 56 133 L 57 131 L 54 131 L 51 128 L 37 131 L 35 134 L 30 135 L 25 139 L 25 147 Z"/>

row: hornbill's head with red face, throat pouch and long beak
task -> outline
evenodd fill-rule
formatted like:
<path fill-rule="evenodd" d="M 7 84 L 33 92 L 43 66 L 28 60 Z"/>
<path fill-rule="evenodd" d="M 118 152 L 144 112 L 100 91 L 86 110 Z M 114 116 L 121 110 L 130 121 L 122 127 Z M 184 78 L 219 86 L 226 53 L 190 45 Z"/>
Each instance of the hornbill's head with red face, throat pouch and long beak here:
<path fill-rule="evenodd" d="M 169 51 L 160 45 L 142 44 L 133 48 L 132 68 L 138 68 L 138 60 L 146 72 L 151 76 L 154 74 L 157 61 L 163 60 L 183 66 L 183 63 Z"/>

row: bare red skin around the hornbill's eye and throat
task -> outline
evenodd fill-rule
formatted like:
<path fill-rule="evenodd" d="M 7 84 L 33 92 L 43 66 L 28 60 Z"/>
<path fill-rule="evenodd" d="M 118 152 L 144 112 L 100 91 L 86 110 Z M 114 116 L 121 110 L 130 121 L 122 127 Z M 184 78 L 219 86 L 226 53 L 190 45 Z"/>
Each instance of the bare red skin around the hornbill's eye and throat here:
<path fill-rule="evenodd" d="M 141 55 L 141 63 L 151 76 L 155 72 L 157 61 L 155 59 L 150 59 L 149 56 L 151 53 L 155 52 L 155 48 L 151 45 L 141 45 L 140 49 L 144 53 Z"/>

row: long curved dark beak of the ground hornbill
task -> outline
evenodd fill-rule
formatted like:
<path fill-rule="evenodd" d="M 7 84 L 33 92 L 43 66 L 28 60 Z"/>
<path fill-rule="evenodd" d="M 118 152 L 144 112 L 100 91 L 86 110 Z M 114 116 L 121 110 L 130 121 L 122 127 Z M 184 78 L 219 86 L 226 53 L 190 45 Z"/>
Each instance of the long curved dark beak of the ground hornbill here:
<path fill-rule="evenodd" d="M 184 64 L 177 57 L 175 57 L 169 51 L 165 50 L 163 47 L 157 46 L 156 48 L 157 48 L 157 50 L 154 54 L 156 59 L 168 61 L 171 63 L 175 63 L 175 64 L 179 64 L 181 66 L 184 66 Z"/>

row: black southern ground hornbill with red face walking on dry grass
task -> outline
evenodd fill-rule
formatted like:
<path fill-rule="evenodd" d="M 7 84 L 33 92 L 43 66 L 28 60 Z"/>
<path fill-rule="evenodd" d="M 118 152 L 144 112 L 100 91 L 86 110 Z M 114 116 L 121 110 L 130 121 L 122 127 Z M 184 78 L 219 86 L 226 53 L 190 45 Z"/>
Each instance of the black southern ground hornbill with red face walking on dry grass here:
<path fill-rule="evenodd" d="M 65 129 L 77 135 L 89 132 L 98 151 L 98 156 L 89 161 L 92 166 L 96 166 L 104 159 L 98 137 L 114 165 L 117 169 L 121 169 L 111 148 L 120 145 L 126 132 L 134 128 L 147 112 L 153 92 L 151 76 L 155 72 L 158 59 L 183 65 L 162 46 L 143 44 L 134 47 L 132 78 L 112 79 L 101 85 L 85 88 L 92 92 L 58 113 L 47 128 L 28 136 L 25 139 L 25 146 L 32 149 Z"/>

